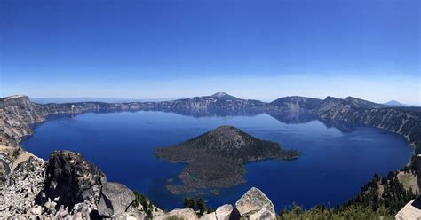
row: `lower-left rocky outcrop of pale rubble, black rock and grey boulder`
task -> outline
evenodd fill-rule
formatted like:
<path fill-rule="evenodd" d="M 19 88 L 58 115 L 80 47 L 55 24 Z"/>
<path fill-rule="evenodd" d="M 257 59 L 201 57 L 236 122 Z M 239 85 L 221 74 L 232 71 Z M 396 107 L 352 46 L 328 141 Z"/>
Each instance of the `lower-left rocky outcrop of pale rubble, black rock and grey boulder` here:
<path fill-rule="evenodd" d="M 105 181 L 105 175 L 91 162 L 84 161 L 80 153 L 53 152 L 46 163 L 30 156 L 6 176 L 0 188 L 0 216 L 13 219 L 145 218 L 141 209 L 127 211 L 134 200 L 130 189 Z M 102 216 L 97 211 L 99 208 L 102 208 Z"/>

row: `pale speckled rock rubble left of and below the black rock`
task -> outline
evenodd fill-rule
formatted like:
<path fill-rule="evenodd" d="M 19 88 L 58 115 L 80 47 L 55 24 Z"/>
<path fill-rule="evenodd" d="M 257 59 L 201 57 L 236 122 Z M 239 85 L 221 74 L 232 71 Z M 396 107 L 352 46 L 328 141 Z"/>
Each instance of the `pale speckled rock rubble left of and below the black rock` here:
<path fill-rule="evenodd" d="M 59 206 L 59 197 L 54 200 L 45 198 L 44 204 L 37 204 L 36 198 L 44 189 L 45 167 L 42 159 L 30 156 L 13 169 L 12 174 L 6 177 L 4 187 L 0 188 L 0 216 L 13 219 L 90 219 L 95 204 L 89 204 L 89 200 L 75 204 L 73 209 Z"/>

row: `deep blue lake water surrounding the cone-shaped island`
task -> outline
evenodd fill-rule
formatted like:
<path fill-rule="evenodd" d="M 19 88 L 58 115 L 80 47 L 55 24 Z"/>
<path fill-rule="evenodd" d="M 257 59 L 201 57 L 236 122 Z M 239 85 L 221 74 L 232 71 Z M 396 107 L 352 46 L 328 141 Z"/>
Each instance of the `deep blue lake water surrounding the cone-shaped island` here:
<path fill-rule="evenodd" d="M 183 195 L 166 190 L 168 178 L 177 178 L 184 164 L 160 161 L 158 146 L 174 145 L 220 125 L 233 125 L 258 138 L 279 142 L 303 154 L 296 161 L 247 164 L 244 185 L 205 194 L 217 208 L 240 199 L 251 186 L 274 202 L 276 211 L 296 202 L 334 206 L 360 192 L 374 173 L 386 175 L 409 161 L 412 148 L 400 136 L 368 127 L 352 132 L 327 128 L 312 121 L 287 124 L 268 114 L 229 117 L 192 117 L 162 112 L 79 114 L 53 119 L 36 127 L 21 145 L 48 160 L 52 150 L 83 153 L 107 175 L 108 181 L 146 193 L 160 208 L 179 208 Z"/>

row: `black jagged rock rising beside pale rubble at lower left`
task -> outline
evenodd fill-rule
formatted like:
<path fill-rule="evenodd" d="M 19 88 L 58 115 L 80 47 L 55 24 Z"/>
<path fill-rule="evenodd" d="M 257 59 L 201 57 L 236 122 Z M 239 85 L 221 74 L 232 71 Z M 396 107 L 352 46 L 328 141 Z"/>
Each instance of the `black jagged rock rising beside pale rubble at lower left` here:
<path fill-rule="evenodd" d="M 83 161 L 80 153 L 52 152 L 39 201 L 57 200 L 59 206 L 73 208 L 85 200 L 98 200 L 100 186 L 105 183 L 105 175 L 91 162 Z"/>

